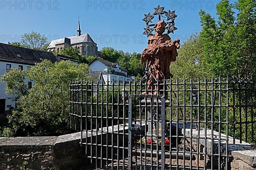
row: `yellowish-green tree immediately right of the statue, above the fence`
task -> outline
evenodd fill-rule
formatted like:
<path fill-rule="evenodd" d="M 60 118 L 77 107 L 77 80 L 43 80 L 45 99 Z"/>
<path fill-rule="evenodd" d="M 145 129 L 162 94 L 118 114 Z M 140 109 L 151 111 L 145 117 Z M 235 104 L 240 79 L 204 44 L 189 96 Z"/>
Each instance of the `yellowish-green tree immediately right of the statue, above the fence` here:
<path fill-rule="evenodd" d="M 209 69 L 206 68 L 202 52 L 199 35 L 192 34 L 178 50 L 176 61 L 170 65 L 170 72 L 174 75 L 174 79 L 208 77 Z"/>

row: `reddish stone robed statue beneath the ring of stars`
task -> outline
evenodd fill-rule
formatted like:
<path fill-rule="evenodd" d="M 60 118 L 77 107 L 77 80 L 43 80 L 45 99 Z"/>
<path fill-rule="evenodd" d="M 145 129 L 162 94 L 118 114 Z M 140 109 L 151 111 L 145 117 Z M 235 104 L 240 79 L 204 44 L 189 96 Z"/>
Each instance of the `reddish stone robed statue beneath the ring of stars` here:
<path fill-rule="evenodd" d="M 163 34 L 166 29 L 164 20 L 159 20 L 154 25 L 156 33 L 148 39 L 148 47 L 142 53 L 141 62 L 148 67 L 151 74 L 148 77 L 148 94 L 151 94 L 151 83 L 156 83 L 158 79 L 163 82 L 163 79 L 170 79 L 172 74 L 169 67 L 171 62 L 176 61 L 178 56 L 177 49 L 180 48 L 180 40 L 171 40 L 168 34 Z M 158 90 L 162 90 L 163 86 L 158 86 Z M 153 86 L 153 91 L 157 90 L 156 85 Z M 157 94 L 154 92 L 154 94 Z"/>

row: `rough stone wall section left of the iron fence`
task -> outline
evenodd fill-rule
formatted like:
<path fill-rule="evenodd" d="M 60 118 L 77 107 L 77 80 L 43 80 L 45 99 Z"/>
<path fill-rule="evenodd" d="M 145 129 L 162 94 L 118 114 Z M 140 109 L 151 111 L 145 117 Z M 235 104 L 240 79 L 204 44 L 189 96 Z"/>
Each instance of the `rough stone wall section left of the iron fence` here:
<path fill-rule="evenodd" d="M 29 170 L 74 170 L 81 167 L 80 134 L 0 138 L 0 170 L 20 170 L 21 167 Z"/>

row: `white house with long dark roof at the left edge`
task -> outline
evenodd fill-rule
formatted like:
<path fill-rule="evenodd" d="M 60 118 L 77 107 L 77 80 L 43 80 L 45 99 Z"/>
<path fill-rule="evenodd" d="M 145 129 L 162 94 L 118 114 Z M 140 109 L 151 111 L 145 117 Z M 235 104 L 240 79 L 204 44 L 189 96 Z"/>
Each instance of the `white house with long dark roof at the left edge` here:
<path fill-rule="evenodd" d="M 0 76 L 5 74 L 11 68 L 19 68 L 25 70 L 34 67 L 35 63 L 48 59 L 51 62 L 61 60 L 76 60 L 65 56 L 54 56 L 54 54 L 46 51 L 38 51 L 29 48 L 16 47 L 13 45 L 0 43 Z M 33 82 L 25 80 L 29 87 L 32 87 Z M 13 94 L 6 95 L 6 83 L 0 82 L 0 116 L 5 116 L 10 113 L 12 108 L 16 108 L 15 98 Z"/>

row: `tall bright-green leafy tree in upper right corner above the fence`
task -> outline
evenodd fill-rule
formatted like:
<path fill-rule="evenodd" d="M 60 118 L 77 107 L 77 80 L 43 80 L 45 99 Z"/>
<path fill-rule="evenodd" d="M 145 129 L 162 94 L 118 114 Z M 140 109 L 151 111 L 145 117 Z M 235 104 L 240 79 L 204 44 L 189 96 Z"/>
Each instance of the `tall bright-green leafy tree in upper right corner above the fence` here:
<path fill-rule="evenodd" d="M 218 20 L 201 10 L 202 54 L 212 76 L 256 75 L 256 1 L 221 0 Z M 235 16 L 235 11 L 237 15 Z"/>

